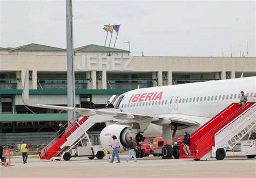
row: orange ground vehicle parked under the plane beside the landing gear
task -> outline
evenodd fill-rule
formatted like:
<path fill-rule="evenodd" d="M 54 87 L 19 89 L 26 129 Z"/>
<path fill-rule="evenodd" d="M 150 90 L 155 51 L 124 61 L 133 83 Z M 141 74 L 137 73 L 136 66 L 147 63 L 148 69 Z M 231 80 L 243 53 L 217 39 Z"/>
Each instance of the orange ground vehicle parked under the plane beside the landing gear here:
<path fill-rule="evenodd" d="M 173 139 L 173 156 L 174 158 L 179 158 L 179 145 L 183 142 L 183 138 L 174 138 Z M 163 156 L 165 145 L 169 145 L 169 143 L 163 139 L 163 137 L 155 137 L 153 138 L 152 143 L 150 143 L 149 138 L 145 138 L 144 141 L 140 142 L 138 145 L 138 149 L 136 150 L 136 157 L 143 158 L 144 156 L 149 156 L 152 154 L 153 156 Z"/>

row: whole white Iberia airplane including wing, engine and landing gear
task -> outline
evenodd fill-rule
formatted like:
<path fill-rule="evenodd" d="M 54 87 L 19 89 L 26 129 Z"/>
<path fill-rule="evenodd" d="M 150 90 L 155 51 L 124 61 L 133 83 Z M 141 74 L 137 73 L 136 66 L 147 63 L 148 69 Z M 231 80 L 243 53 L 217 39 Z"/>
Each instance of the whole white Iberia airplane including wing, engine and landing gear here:
<path fill-rule="evenodd" d="M 114 96 L 111 97 L 113 109 L 86 109 L 31 103 L 28 82 L 27 70 L 22 93 L 25 105 L 75 111 L 87 117 L 109 117 L 112 124 L 100 133 L 100 143 L 104 149 L 112 150 L 113 135 L 122 145 L 120 152 L 129 144 L 130 136 L 138 142 L 143 137 L 163 136 L 170 144 L 163 147 L 166 158 L 178 154 L 172 145 L 172 137 L 182 137 L 184 131 L 193 133 L 228 105 L 239 102 L 240 91 L 245 91 L 247 96 L 256 96 L 256 76 L 253 76 L 140 88 L 125 92 L 115 100 L 112 100 Z"/>

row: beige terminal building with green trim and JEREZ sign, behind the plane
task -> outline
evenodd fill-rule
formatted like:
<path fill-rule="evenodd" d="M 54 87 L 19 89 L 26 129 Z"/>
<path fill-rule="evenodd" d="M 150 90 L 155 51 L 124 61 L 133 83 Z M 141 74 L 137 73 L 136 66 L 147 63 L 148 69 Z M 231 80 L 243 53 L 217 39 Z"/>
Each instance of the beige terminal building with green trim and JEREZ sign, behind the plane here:
<path fill-rule="evenodd" d="M 111 55 L 107 55 L 110 52 Z M 27 139 L 41 143 L 67 121 L 65 111 L 22 103 L 26 69 L 33 103 L 67 105 L 66 49 L 29 44 L 0 48 L 0 144 Z M 131 56 L 98 45 L 75 48 L 76 105 L 103 108 L 112 95 L 146 87 L 256 76 L 256 58 Z M 99 134 L 96 124 L 90 134 Z M 92 141 L 93 142 L 93 141 Z"/>

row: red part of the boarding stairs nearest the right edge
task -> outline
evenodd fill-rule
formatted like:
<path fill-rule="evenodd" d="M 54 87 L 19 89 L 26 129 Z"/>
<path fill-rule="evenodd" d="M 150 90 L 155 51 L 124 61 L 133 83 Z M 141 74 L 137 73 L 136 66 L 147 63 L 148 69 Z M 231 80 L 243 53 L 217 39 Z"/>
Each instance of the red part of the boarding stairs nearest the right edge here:
<path fill-rule="evenodd" d="M 186 156 L 183 150 L 184 144 L 180 145 L 180 158 L 201 159 L 205 154 L 210 152 L 212 146 L 214 146 L 215 133 L 230 123 L 233 119 L 237 118 L 253 104 L 254 102 L 248 102 L 241 108 L 238 103 L 229 105 L 191 135 L 190 150 L 192 155 Z"/>

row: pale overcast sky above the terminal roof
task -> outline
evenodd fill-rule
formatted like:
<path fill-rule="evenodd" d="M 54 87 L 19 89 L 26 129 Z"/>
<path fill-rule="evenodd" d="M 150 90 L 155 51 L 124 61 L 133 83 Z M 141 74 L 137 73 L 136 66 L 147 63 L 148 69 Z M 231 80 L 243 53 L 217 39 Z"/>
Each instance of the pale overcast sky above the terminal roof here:
<path fill-rule="evenodd" d="M 65 0 L 0 0 L 0 47 L 66 48 L 65 8 Z M 104 46 L 108 24 L 121 24 L 116 48 L 129 50 L 130 41 L 132 55 L 247 56 L 248 42 L 255 56 L 254 1 L 73 0 L 75 48 Z"/>

